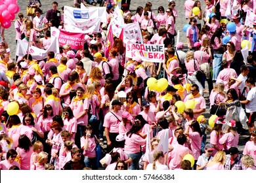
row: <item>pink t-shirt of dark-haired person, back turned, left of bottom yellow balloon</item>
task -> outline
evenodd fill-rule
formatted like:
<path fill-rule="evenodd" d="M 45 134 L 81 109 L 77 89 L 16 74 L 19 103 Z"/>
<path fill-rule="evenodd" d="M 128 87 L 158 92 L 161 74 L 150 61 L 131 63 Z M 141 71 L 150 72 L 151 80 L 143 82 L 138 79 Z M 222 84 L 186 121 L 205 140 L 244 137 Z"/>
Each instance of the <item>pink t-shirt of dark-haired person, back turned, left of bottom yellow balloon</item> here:
<path fill-rule="evenodd" d="M 190 154 L 190 152 L 189 148 L 184 147 L 181 144 L 173 144 L 173 150 L 168 154 L 169 169 L 180 169 L 183 157 L 186 154 Z"/>

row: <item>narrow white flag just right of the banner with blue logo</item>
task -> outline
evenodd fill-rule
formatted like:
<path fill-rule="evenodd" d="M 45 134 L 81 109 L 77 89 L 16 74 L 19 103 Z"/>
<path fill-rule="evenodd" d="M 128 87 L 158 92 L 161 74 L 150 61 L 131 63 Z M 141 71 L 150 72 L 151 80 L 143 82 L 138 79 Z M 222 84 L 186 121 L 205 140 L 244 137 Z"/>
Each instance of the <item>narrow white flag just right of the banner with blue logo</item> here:
<path fill-rule="evenodd" d="M 121 30 L 122 30 L 120 26 L 123 24 L 125 24 L 125 21 L 123 20 L 121 11 L 118 7 L 116 7 L 113 17 L 110 20 L 110 24 L 108 25 L 108 29 L 109 29 L 110 25 L 112 25 L 113 34 L 116 37 L 119 37 Z"/>

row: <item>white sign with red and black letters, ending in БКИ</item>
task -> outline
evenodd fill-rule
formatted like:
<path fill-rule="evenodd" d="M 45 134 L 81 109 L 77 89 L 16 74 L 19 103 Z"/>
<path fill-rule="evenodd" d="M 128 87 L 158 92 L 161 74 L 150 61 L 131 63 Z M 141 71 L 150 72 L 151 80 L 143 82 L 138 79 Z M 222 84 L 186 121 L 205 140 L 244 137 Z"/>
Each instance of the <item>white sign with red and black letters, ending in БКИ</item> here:
<path fill-rule="evenodd" d="M 129 41 L 125 56 L 127 58 L 139 56 L 143 61 L 164 63 L 165 46 L 163 44 L 134 44 Z"/>

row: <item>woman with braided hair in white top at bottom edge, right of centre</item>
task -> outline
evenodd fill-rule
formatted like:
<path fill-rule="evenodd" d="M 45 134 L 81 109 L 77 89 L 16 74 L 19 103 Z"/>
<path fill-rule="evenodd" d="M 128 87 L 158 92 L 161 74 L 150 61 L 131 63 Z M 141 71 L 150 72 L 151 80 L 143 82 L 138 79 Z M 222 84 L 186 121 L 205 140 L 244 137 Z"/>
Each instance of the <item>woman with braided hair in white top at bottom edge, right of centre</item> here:
<path fill-rule="evenodd" d="M 159 170 L 169 170 L 167 165 L 163 165 L 165 156 L 162 151 L 154 152 L 153 158 L 154 158 L 153 163 L 149 163 L 146 166 L 146 170 L 158 170 L 158 171 Z"/>

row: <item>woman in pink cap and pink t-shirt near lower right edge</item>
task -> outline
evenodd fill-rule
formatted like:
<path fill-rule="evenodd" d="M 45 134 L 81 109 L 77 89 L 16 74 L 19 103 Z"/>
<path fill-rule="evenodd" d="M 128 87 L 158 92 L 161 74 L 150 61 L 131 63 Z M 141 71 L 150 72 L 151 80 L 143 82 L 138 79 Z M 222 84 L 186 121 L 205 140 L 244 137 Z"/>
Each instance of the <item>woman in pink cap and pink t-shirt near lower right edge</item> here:
<path fill-rule="evenodd" d="M 231 147 L 237 147 L 239 135 L 236 131 L 236 121 L 228 122 L 228 128 L 224 131 L 223 137 L 219 139 L 220 144 L 224 145 L 224 151 L 228 151 Z"/>

